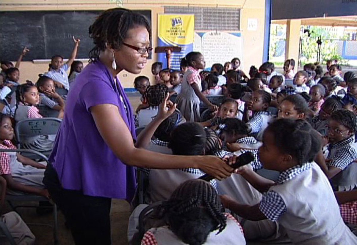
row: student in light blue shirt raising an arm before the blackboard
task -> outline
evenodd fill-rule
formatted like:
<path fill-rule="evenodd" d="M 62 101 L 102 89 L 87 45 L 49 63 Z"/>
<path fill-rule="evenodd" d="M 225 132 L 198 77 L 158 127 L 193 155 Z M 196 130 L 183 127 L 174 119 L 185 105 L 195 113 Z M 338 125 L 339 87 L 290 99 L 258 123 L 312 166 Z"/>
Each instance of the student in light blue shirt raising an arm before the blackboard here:
<path fill-rule="evenodd" d="M 75 39 L 74 41 L 74 48 L 72 50 L 71 56 L 69 57 L 68 61 L 63 64 L 63 57 L 56 54 L 51 58 L 51 67 L 48 72 L 44 75 L 46 77 L 50 77 L 54 82 L 57 88 L 64 88 L 69 90 L 69 82 L 67 77 L 67 69 L 72 65 L 74 59 L 77 56 L 77 49 L 79 46 L 79 39 Z"/>

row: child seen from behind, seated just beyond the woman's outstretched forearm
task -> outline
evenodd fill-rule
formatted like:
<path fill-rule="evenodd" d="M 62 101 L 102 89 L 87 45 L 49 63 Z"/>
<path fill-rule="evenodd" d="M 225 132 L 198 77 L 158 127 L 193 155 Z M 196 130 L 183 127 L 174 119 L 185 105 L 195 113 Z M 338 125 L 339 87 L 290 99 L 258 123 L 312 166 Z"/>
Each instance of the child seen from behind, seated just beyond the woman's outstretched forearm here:
<path fill-rule="evenodd" d="M 169 148 L 174 155 L 200 156 L 203 155 L 206 142 L 206 132 L 200 124 L 183 123 L 172 132 Z M 149 175 L 151 201 L 168 199 L 179 184 L 188 179 L 199 178 L 204 174 L 198 168 L 151 169 Z M 216 187 L 216 180 L 213 179 L 211 184 Z"/>

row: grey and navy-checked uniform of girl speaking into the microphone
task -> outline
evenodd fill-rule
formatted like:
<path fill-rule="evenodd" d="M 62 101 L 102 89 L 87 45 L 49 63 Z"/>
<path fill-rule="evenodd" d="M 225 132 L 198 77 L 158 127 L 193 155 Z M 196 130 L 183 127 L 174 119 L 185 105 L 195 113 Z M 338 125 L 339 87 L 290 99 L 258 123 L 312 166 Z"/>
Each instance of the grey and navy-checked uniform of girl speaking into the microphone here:
<path fill-rule="evenodd" d="M 315 163 L 280 173 L 277 185 L 263 194 L 261 212 L 286 229 L 293 244 L 357 244 L 343 223 L 330 183 Z"/>

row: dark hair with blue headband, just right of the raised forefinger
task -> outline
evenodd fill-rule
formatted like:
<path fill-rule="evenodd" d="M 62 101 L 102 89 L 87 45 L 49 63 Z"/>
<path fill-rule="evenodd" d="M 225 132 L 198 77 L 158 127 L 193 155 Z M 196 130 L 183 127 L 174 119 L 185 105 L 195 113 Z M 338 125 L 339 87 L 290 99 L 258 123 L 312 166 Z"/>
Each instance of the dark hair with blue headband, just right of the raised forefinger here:
<path fill-rule="evenodd" d="M 171 140 L 171 133 L 175 127 L 185 122 L 186 119 L 182 116 L 181 112 L 176 109 L 172 115 L 162 121 L 157 127 L 154 136 L 161 141 L 169 142 Z"/>

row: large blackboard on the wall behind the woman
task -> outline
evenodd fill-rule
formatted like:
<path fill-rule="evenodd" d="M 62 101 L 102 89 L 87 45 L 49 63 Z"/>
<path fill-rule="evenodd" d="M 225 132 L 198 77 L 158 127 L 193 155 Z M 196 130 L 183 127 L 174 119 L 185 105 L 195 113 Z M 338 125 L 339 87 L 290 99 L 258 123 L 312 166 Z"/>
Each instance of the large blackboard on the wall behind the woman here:
<path fill-rule="evenodd" d="M 151 24 L 151 10 L 135 11 Z M 74 46 L 72 36 L 81 40 L 77 58 L 86 59 L 94 47 L 88 28 L 101 12 L 0 12 L 0 60 L 16 61 L 25 46 L 30 52 L 24 61 L 50 59 L 54 54 L 69 58 Z"/>

